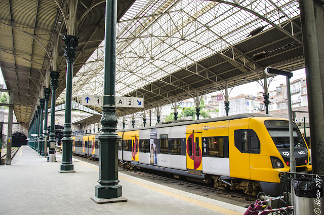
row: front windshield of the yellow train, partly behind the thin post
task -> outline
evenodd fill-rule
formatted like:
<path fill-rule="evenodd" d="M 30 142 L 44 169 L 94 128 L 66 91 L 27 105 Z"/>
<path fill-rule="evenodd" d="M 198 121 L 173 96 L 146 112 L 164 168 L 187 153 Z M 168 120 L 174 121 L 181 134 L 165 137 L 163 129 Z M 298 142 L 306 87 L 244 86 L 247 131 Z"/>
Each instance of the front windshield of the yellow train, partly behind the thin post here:
<path fill-rule="evenodd" d="M 266 127 L 275 146 L 277 148 L 290 148 L 288 121 L 282 121 L 280 124 L 269 123 L 268 125 L 266 124 Z M 296 124 L 294 124 L 293 128 L 293 137 L 295 148 L 306 147 L 302 134 Z"/>

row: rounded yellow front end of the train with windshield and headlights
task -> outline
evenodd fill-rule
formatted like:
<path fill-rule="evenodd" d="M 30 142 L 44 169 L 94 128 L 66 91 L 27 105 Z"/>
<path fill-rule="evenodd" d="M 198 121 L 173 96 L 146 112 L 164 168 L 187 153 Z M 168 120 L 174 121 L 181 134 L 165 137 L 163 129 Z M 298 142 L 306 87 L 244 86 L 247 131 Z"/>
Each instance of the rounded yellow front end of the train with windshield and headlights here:
<path fill-rule="evenodd" d="M 267 195 L 278 196 L 283 186 L 283 182 L 279 178 L 279 171 L 290 171 L 288 120 L 251 118 L 249 129 L 254 130 L 260 140 L 260 145 L 258 145 L 255 137 L 248 134 L 251 180 L 259 181 L 263 192 Z M 310 153 L 295 123 L 293 123 L 293 136 L 297 172 L 311 171 Z M 243 139 L 241 136 L 241 141 L 244 141 Z"/>

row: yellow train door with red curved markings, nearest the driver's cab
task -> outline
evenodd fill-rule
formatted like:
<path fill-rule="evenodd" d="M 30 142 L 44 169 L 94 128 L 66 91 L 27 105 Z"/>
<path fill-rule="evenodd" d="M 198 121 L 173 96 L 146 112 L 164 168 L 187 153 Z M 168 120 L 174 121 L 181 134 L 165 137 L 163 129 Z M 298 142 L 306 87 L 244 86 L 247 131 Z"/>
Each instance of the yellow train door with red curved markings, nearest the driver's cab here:
<path fill-rule="evenodd" d="M 186 130 L 187 139 L 187 170 L 191 174 L 199 174 L 203 170 L 201 164 L 201 124 L 188 125 Z"/>

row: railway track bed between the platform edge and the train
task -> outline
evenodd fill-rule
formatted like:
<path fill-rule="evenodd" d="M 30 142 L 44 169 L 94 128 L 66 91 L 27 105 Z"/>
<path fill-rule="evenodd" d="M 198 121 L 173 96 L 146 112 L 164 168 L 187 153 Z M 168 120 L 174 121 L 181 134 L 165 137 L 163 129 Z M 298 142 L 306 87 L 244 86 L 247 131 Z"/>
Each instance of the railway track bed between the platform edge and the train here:
<path fill-rule="evenodd" d="M 61 154 L 61 152 L 58 153 Z M 91 160 L 82 156 L 72 157 L 99 166 L 98 160 Z M 164 172 L 153 171 L 148 169 L 131 170 L 124 167 L 118 167 L 118 171 L 157 184 L 173 187 L 182 191 L 194 193 L 196 195 L 216 199 L 230 204 L 235 204 L 241 207 L 248 207 L 250 203 L 255 202 L 255 198 L 253 198 L 253 196 L 240 193 L 239 191 L 235 192 L 230 190 L 216 189 L 210 187 L 208 184 L 205 185 L 203 183 L 191 182 L 183 178 L 174 178 L 173 175 L 168 175 Z"/>

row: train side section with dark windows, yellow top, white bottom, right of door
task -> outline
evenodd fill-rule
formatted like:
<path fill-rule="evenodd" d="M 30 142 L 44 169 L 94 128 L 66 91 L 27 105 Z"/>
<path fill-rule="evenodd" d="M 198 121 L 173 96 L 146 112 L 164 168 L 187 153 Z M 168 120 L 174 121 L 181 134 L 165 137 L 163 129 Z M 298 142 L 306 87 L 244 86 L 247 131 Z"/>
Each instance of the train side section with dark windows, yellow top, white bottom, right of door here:
<path fill-rule="evenodd" d="M 203 124 L 203 173 L 230 176 L 228 124 L 229 121 Z"/>

